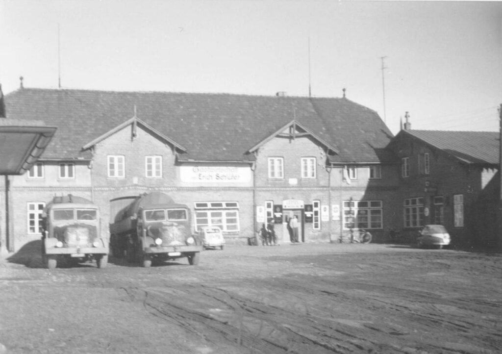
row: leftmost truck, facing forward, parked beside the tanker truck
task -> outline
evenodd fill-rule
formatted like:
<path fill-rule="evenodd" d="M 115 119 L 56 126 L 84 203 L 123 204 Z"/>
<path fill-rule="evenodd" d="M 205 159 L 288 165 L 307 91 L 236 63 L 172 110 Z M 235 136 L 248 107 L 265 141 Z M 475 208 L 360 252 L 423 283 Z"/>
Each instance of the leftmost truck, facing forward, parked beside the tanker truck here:
<path fill-rule="evenodd" d="M 101 237 L 99 207 L 74 196 L 54 196 L 42 211 L 42 259 L 48 269 L 58 263 L 78 264 L 95 260 L 97 268 L 108 263 L 108 241 Z"/>

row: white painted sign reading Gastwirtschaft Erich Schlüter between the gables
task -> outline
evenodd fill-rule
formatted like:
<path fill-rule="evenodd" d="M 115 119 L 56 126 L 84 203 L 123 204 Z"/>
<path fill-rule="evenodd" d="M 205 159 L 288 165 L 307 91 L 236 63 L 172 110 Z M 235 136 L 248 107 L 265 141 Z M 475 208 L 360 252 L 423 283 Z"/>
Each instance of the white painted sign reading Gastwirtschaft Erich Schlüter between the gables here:
<path fill-rule="evenodd" d="M 251 169 L 237 166 L 180 166 L 182 182 L 249 183 Z"/>

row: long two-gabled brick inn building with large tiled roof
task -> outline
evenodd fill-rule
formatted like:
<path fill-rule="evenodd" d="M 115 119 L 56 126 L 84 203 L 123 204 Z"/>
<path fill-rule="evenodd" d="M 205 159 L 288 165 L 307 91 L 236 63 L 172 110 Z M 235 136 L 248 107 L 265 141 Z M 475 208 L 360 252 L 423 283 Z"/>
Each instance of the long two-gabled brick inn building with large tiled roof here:
<path fill-rule="evenodd" d="M 399 163 L 379 115 L 341 98 L 20 88 L 10 117 L 58 128 L 38 163 L 0 182 L 0 235 L 12 251 L 39 240 L 54 195 L 100 206 L 102 231 L 123 198 L 164 191 L 190 206 L 194 229 L 218 225 L 247 243 L 274 218 L 280 243 L 298 215 L 302 242 L 349 227 L 378 237 L 399 205 Z M 9 195 L 10 222 L 3 205 Z M 7 224 L 9 232 L 6 232 Z"/>

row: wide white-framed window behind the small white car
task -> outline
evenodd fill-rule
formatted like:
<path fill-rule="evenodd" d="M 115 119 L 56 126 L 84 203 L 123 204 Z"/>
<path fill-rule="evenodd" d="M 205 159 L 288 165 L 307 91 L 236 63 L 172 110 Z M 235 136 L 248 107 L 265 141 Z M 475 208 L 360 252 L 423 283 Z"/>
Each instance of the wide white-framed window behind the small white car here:
<path fill-rule="evenodd" d="M 195 202 L 195 229 L 218 226 L 222 231 L 239 231 L 239 204 L 236 201 Z"/>

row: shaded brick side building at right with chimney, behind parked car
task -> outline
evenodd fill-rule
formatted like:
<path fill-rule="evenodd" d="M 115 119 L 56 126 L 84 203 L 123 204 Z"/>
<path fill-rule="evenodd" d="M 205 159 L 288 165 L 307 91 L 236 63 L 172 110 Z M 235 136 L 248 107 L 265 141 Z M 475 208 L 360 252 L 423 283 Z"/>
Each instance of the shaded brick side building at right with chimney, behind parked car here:
<path fill-rule="evenodd" d="M 453 244 L 495 246 L 499 144 L 497 132 L 420 131 L 407 122 L 388 146 L 401 160 L 405 233 L 443 224 Z"/>

